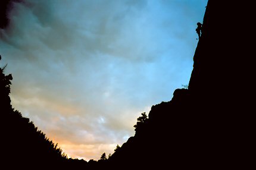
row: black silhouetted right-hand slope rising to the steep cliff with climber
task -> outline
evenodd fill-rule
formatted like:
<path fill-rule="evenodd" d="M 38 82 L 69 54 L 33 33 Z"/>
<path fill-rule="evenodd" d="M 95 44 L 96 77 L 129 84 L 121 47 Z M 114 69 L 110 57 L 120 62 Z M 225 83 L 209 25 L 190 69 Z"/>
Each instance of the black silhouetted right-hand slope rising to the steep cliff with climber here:
<path fill-rule="evenodd" d="M 113 154 L 112 168 L 245 166 L 241 155 L 252 133 L 252 105 L 242 82 L 247 41 L 238 18 L 251 17 L 244 7 L 208 1 L 188 89 L 152 106 L 148 121 Z"/>

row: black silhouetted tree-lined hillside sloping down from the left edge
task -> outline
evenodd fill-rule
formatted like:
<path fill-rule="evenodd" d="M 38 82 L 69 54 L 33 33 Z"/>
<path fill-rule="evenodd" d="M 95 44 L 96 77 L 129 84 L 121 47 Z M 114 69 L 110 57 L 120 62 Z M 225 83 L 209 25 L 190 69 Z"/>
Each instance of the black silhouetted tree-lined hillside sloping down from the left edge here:
<path fill-rule="evenodd" d="M 9 96 L 13 77 L 5 75 L 5 67 L 0 68 L 1 166 L 6 169 L 98 169 L 101 161 L 68 159 L 29 118 L 14 110 Z"/>

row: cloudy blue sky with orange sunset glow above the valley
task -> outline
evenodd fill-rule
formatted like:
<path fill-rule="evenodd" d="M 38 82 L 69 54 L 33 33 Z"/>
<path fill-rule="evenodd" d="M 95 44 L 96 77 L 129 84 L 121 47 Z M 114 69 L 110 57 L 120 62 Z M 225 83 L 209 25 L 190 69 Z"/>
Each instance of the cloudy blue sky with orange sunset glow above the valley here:
<path fill-rule="evenodd" d="M 207 0 L 24 0 L 0 29 L 11 103 L 71 158 L 98 160 L 189 83 Z"/>

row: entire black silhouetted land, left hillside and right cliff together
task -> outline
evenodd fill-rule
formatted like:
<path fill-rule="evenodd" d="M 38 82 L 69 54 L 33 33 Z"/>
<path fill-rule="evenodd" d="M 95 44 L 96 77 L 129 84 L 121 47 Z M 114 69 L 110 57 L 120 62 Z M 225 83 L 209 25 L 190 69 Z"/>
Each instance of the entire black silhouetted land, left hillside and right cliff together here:
<path fill-rule="evenodd" d="M 89 162 L 65 158 L 33 122 L 13 110 L 12 77 L 1 69 L 3 162 L 45 169 L 246 169 L 253 160 L 255 112 L 254 88 L 246 87 L 255 77 L 246 68 L 251 49 L 242 21 L 252 18 L 244 12 L 247 5 L 208 1 L 188 89 L 176 89 L 171 101 L 152 106 L 148 116 L 143 113 L 135 136 L 109 159 L 104 154 Z"/>

